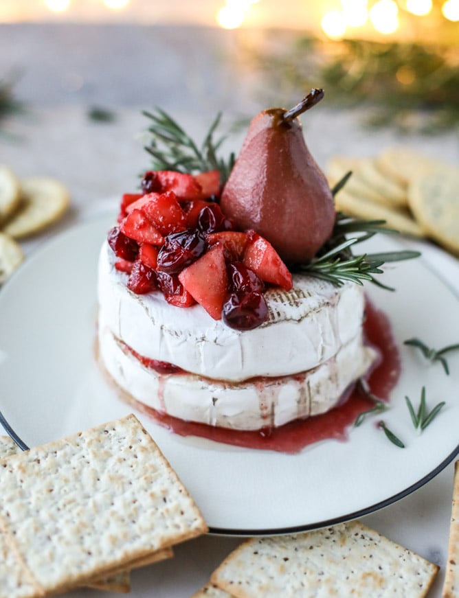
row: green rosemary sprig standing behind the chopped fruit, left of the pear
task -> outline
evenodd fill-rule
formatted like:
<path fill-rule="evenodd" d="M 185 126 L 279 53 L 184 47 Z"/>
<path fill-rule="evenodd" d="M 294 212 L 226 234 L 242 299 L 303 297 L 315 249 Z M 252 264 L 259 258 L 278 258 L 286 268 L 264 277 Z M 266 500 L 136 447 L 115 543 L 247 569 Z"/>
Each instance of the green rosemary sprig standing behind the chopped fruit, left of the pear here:
<path fill-rule="evenodd" d="M 177 170 L 178 172 L 205 172 L 219 170 L 221 183 L 225 183 L 234 165 L 234 153 L 227 160 L 218 156 L 225 137 L 214 141 L 214 133 L 221 121 L 221 113 L 216 115 L 207 135 L 199 148 L 192 138 L 160 108 L 155 113 L 144 111 L 150 119 L 148 132 L 150 145 L 146 151 L 153 156 L 153 170 Z"/>

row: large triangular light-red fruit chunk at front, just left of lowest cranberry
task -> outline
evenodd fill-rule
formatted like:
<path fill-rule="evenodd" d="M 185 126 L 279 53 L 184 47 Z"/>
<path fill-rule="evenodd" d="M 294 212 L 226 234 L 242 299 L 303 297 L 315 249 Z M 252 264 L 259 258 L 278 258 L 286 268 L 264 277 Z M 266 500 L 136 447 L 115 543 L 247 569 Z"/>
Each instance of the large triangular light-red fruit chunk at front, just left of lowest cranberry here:
<path fill-rule="evenodd" d="M 223 246 L 216 245 L 179 274 L 179 281 L 214 320 L 228 292 L 228 275 Z"/>

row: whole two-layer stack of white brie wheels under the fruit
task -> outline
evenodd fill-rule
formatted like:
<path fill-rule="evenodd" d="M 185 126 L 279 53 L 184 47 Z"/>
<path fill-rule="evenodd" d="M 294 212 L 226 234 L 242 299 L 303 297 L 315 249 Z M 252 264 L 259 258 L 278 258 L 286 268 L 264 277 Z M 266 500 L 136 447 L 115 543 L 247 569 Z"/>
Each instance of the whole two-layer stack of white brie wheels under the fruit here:
<path fill-rule="evenodd" d="M 295 275 L 266 292 L 269 321 L 241 332 L 203 308 L 178 308 L 160 292 L 136 295 L 100 253 L 100 360 L 123 391 L 161 412 L 238 430 L 324 413 L 377 357 L 363 342 L 362 287 Z M 128 349 L 132 349 L 130 351 Z M 133 354 L 183 371 L 159 373 Z"/>

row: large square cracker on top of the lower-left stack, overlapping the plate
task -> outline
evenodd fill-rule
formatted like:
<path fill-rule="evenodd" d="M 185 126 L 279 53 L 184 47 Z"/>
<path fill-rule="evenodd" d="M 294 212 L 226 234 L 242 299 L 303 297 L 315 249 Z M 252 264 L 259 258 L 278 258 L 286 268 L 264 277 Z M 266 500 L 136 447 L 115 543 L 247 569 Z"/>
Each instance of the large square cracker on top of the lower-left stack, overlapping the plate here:
<path fill-rule="evenodd" d="M 0 459 L 0 487 L 0 525 L 34 579 L 35 591 L 24 595 L 31 598 L 130 568 L 207 531 L 134 415 Z"/>

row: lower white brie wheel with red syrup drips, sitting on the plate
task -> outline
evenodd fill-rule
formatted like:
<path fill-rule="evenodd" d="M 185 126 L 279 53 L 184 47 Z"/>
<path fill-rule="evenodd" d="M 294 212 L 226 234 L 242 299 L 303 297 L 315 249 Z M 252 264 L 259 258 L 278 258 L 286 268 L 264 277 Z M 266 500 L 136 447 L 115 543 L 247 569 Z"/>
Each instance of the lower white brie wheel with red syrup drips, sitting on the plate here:
<path fill-rule="evenodd" d="M 131 398 L 180 419 L 236 430 L 282 426 L 325 413 L 376 358 L 362 334 L 321 365 L 294 376 L 219 382 L 192 373 L 158 373 L 145 367 L 101 314 L 99 356 L 118 387 Z"/>

